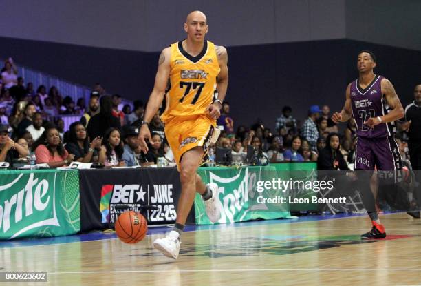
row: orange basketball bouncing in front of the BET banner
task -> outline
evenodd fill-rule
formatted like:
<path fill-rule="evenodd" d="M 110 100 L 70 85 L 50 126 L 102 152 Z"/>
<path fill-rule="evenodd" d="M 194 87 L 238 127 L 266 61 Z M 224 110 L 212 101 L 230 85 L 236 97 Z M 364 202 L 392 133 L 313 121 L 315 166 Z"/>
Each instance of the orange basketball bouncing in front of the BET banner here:
<path fill-rule="evenodd" d="M 138 212 L 123 212 L 116 221 L 116 234 L 125 243 L 142 241 L 148 231 L 148 223 Z"/>

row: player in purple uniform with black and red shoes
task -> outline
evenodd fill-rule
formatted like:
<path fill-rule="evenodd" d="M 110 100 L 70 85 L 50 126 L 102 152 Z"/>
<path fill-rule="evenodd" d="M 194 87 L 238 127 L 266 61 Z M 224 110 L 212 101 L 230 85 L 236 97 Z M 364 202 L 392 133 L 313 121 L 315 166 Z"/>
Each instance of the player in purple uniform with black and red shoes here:
<path fill-rule="evenodd" d="M 358 79 L 349 83 L 345 105 L 341 112 L 335 112 L 335 123 L 348 121 L 352 116 L 357 126 L 358 143 L 354 170 L 396 171 L 402 170 L 399 147 L 393 138 L 394 121 L 404 116 L 404 109 L 388 79 L 376 75 L 376 57 L 370 51 L 358 54 Z M 369 179 L 371 172 L 358 172 L 358 190 L 373 227 L 361 238 L 385 238 L 385 227 L 376 212 L 377 194 L 371 193 Z"/>

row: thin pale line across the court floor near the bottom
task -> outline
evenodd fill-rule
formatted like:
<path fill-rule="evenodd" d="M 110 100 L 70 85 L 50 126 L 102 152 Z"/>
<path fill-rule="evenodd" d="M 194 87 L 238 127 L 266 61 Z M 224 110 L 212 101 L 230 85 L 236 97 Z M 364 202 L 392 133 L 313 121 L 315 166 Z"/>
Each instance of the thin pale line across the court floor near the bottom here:
<path fill-rule="evenodd" d="M 162 270 L 111 270 L 111 271 L 75 271 L 75 272 L 48 272 L 48 275 L 60 274 L 107 274 L 107 273 L 160 273 L 160 272 L 312 272 L 312 271 L 415 271 L 415 268 L 278 268 L 278 269 L 162 269 Z"/>

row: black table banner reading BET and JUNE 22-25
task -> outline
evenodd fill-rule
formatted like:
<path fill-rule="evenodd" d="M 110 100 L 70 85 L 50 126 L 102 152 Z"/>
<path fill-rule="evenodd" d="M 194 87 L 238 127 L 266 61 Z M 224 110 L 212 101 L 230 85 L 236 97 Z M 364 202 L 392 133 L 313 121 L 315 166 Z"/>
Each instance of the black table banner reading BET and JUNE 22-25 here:
<path fill-rule="evenodd" d="M 80 170 L 80 192 L 83 231 L 111 227 L 126 210 L 144 214 L 150 224 L 174 223 L 180 179 L 171 167 Z M 156 209 L 142 210 L 142 205 Z"/>

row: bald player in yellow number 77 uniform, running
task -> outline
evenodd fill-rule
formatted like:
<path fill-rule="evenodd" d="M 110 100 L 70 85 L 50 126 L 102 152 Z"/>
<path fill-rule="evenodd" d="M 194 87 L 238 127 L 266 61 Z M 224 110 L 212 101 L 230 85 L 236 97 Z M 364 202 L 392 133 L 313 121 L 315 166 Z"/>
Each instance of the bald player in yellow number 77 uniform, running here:
<path fill-rule="evenodd" d="M 145 139 L 151 142 L 149 122 L 162 103 L 169 79 L 171 87 L 166 94 L 166 109 L 161 119 L 180 171 L 182 192 L 173 230 L 165 238 L 156 239 L 153 247 L 174 259 L 180 252 L 180 236 L 195 192 L 202 195 L 210 221 L 215 223 L 221 216 L 217 185 L 204 185 L 196 172 L 210 139 L 214 136 L 215 140 L 216 119 L 228 87 L 228 55 L 224 47 L 205 41 L 208 32 L 205 14 L 200 11 L 188 14 L 184 30 L 187 33 L 185 40 L 162 50 L 155 85 L 139 133 L 140 147 L 146 153 Z M 218 99 L 213 101 L 215 88 Z"/>

